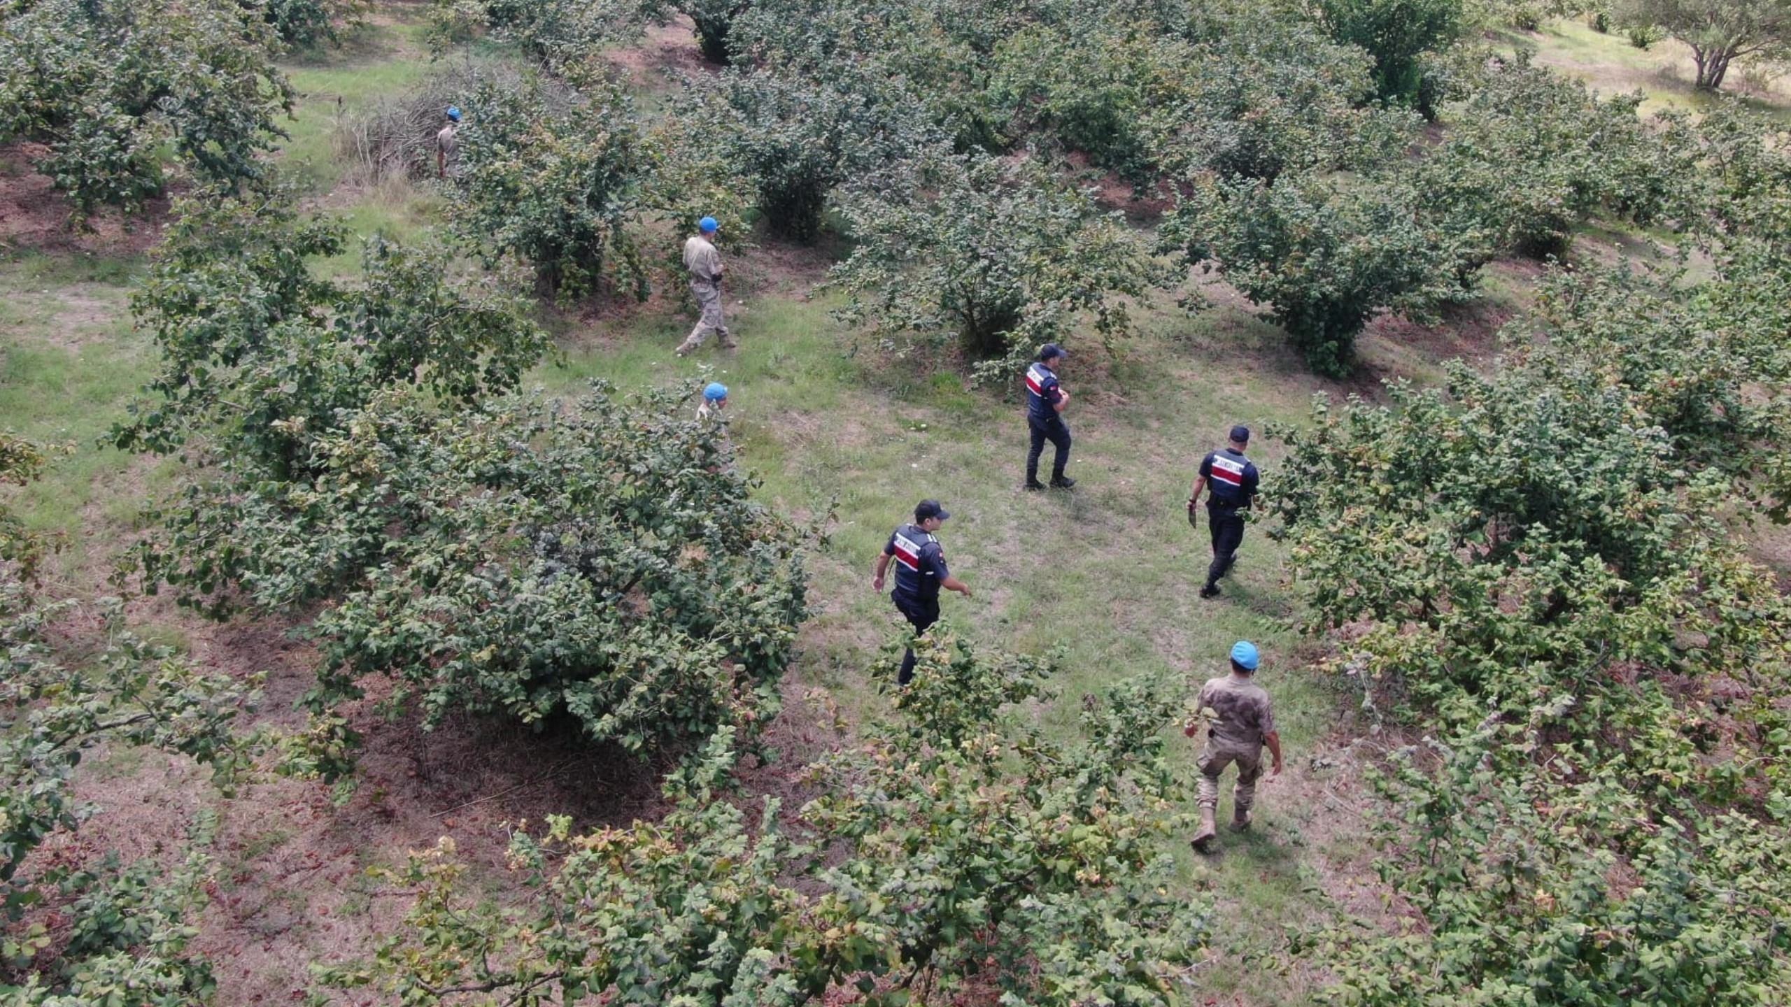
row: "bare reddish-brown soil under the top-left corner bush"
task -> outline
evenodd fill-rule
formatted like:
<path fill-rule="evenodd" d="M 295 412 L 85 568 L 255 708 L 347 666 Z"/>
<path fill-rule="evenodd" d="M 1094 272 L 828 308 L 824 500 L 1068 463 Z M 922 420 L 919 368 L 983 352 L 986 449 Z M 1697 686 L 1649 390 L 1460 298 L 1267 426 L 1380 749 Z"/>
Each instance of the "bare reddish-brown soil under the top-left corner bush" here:
<path fill-rule="evenodd" d="M 88 220 L 90 231 L 70 229 L 68 201 L 52 188 L 50 176 L 30 167 L 45 154 L 39 143 L 0 147 L 0 249 L 120 256 L 149 251 L 161 240 L 167 197 L 150 199 L 136 219 L 104 210 Z"/>

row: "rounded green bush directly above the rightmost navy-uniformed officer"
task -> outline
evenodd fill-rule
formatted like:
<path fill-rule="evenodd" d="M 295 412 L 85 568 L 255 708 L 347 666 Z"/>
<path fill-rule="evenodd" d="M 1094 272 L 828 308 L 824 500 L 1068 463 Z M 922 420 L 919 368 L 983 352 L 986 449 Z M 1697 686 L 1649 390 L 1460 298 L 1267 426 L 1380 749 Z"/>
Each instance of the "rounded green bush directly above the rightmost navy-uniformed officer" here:
<path fill-rule="evenodd" d="M 1379 310 L 1426 317 L 1456 296 L 1458 237 L 1429 226 L 1399 179 L 1288 177 L 1273 186 L 1202 179 L 1164 224 L 1166 244 L 1288 330 L 1320 374 L 1347 374 Z M 1211 267 L 1211 265 L 1209 265 Z"/>

